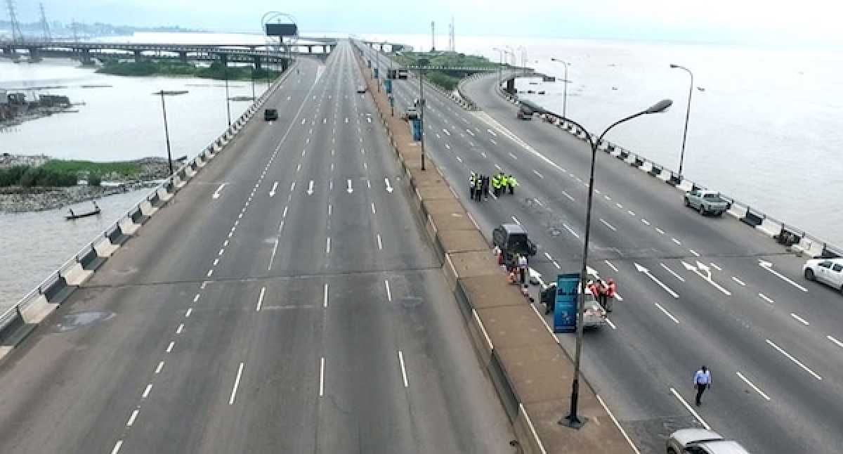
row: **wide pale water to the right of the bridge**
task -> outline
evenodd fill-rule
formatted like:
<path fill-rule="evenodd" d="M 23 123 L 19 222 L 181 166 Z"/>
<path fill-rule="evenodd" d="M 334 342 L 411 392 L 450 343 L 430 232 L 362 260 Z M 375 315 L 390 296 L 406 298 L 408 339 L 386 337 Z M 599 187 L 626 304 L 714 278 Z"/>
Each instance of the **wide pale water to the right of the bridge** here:
<path fill-rule="evenodd" d="M 430 47 L 430 35 L 365 38 Z M 437 36 L 437 42 L 444 46 L 447 36 Z M 517 88 L 545 90 L 546 95 L 522 96 L 560 114 L 564 67 L 550 57 L 571 63 L 567 115 L 593 133 L 658 100 L 673 99 L 670 111 L 622 124 L 606 136 L 672 170 L 679 168 L 690 78 L 669 65 L 689 68 L 695 88 L 685 176 L 843 246 L 843 51 L 457 37 L 458 51 L 495 62 L 500 54 L 492 47 L 507 45 L 518 64 L 518 46 L 524 46 L 528 66 L 556 76 L 556 83 L 519 80 Z"/>

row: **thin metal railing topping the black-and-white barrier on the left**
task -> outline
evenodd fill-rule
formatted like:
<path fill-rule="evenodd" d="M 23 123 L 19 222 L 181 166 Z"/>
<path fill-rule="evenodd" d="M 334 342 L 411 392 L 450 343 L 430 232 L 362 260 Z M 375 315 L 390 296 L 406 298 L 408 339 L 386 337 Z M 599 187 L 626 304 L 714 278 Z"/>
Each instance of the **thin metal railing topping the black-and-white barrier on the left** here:
<path fill-rule="evenodd" d="M 159 199 L 161 191 L 164 191 L 169 195 L 174 195 L 175 192 L 180 191 L 181 186 L 176 184 L 175 180 L 191 180 L 193 176 L 196 176 L 196 173 L 187 174 L 185 170 L 191 167 L 192 164 L 195 164 L 196 159 L 202 159 L 204 162 L 207 162 L 222 151 L 222 147 L 229 142 L 230 138 L 234 138 L 245 122 L 247 122 L 251 116 L 255 115 L 255 112 L 260 109 L 260 106 L 276 92 L 278 87 L 287 78 L 287 75 L 291 73 L 290 69 L 292 69 L 295 64 L 296 63 L 293 62 L 293 65 L 290 65 L 290 67 L 287 68 L 287 72 L 284 73 L 282 77 L 277 78 L 270 89 L 266 90 L 263 95 L 260 95 L 255 102 L 250 105 L 250 107 L 244 111 L 241 116 L 239 116 L 231 127 L 228 127 L 218 138 L 214 139 L 204 149 L 202 149 L 202 151 L 199 152 L 194 159 L 187 161 L 185 165 L 181 165 L 178 170 L 175 170 L 173 175 L 168 176 L 161 182 L 161 184 L 155 186 L 151 192 L 148 192 L 145 196 L 141 197 L 137 203 L 132 205 L 132 208 L 129 208 L 126 213 L 123 213 L 99 235 L 94 237 L 94 240 L 85 244 L 76 254 L 73 255 L 73 257 L 68 259 L 67 262 L 62 263 L 59 268 L 56 268 L 55 271 L 50 273 L 49 276 L 41 281 L 40 284 L 35 286 L 34 289 L 31 289 L 26 295 L 24 295 L 23 298 L 18 300 L 17 303 L 9 307 L 6 311 L 3 311 L 3 313 L 0 313 L 0 333 L 3 333 L 7 327 L 12 326 L 15 322 L 22 320 L 22 312 L 25 311 L 26 308 L 29 307 L 35 300 L 44 296 L 49 301 L 48 295 L 50 292 L 55 291 L 55 286 L 57 284 L 60 285 L 62 283 L 63 279 L 67 276 L 67 272 L 72 268 L 75 268 L 77 264 L 83 265 L 83 262 L 87 260 L 86 257 L 89 257 L 91 251 L 96 251 L 97 246 L 103 244 L 105 241 L 109 241 L 110 244 L 114 244 L 111 241 L 116 232 L 120 232 L 119 235 L 124 235 L 121 230 L 121 223 L 131 222 L 133 213 L 142 213 L 142 205 L 144 203 L 152 204 L 153 199 Z M 215 151 L 217 148 L 219 148 L 219 150 Z"/>

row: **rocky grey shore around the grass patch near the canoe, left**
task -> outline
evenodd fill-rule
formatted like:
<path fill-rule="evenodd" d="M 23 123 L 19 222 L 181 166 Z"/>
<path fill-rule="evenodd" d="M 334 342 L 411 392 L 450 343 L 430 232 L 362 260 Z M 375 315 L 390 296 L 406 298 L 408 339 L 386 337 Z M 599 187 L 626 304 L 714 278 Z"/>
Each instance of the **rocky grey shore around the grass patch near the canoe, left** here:
<path fill-rule="evenodd" d="M 3 155 L 0 167 L 13 165 L 43 165 L 49 157 L 44 155 Z M 0 213 L 24 213 L 67 207 L 75 203 L 107 197 L 113 194 L 130 192 L 146 187 L 154 187 L 169 176 L 167 159 L 143 158 L 132 161 L 139 165 L 139 170 L 132 176 L 116 172 L 103 174 L 101 186 L 89 186 L 87 181 L 68 187 L 0 187 Z M 174 167 L 177 163 L 173 163 Z M 180 165 L 180 164 L 178 164 Z M 85 176 L 80 176 L 84 178 Z"/>

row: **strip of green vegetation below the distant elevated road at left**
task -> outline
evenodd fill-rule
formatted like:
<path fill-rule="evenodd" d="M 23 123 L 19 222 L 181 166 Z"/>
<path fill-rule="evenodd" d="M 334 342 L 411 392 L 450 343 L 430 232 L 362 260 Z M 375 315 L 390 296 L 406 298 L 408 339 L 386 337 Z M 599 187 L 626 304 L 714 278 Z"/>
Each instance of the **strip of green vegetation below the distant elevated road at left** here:
<path fill-rule="evenodd" d="M 177 61 L 142 60 L 140 62 L 121 62 L 108 60 L 97 73 L 114 74 L 116 76 L 191 76 L 197 78 L 224 79 L 226 69 L 221 62 L 212 62 L 209 67 L 198 67 L 192 63 Z M 228 80 L 251 80 L 277 78 L 281 73 L 266 69 L 255 70 L 251 67 L 228 66 Z"/>

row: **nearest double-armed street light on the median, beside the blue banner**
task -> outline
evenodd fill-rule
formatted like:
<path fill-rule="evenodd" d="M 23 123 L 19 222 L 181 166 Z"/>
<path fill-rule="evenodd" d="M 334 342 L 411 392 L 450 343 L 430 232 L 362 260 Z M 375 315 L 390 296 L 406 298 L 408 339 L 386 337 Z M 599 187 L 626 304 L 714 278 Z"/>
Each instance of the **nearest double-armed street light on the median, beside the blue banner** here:
<path fill-rule="evenodd" d="M 580 358 L 583 354 L 583 313 L 585 312 L 585 284 L 586 278 L 588 277 L 588 240 L 589 233 L 591 230 L 591 208 L 594 198 L 594 165 L 597 160 L 597 147 L 600 143 L 603 142 L 603 137 L 606 135 L 606 132 L 609 132 L 609 130 L 613 127 L 620 125 L 620 123 L 628 122 L 631 119 L 636 118 L 637 116 L 663 112 L 667 110 L 668 107 L 673 104 L 673 102 L 674 101 L 672 100 L 658 101 L 658 103 L 652 105 L 646 111 L 640 111 L 634 115 L 627 116 L 626 118 L 612 123 L 611 126 L 607 127 L 605 131 L 600 134 L 600 137 L 597 139 L 597 142 L 594 142 L 591 134 L 588 133 L 588 130 L 585 127 L 568 118 L 562 118 L 566 122 L 571 122 L 576 127 L 582 129 L 583 132 L 585 132 L 586 138 L 588 139 L 588 143 L 591 145 L 591 174 L 588 177 L 588 208 L 586 208 L 587 211 L 585 215 L 585 244 L 583 245 L 583 267 L 580 269 L 580 289 L 579 296 L 577 297 L 577 349 L 574 354 L 574 375 L 571 381 L 571 408 L 569 409 L 568 415 L 565 418 L 559 420 L 559 424 L 565 424 L 573 429 L 579 429 L 583 427 L 583 424 L 585 424 L 585 422 L 581 421 L 577 416 L 577 407 L 579 403 Z"/>

